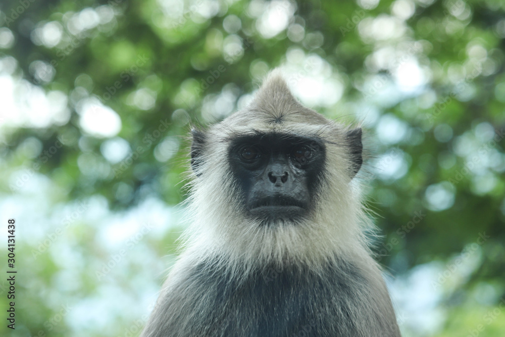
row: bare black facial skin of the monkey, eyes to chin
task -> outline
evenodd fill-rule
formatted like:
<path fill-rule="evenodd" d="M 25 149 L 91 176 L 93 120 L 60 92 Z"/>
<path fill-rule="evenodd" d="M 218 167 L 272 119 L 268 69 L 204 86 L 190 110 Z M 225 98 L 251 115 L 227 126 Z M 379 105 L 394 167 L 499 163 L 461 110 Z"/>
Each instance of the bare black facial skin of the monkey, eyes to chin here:
<path fill-rule="evenodd" d="M 325 147 L 317 138 L 255 134 L 233 140 L 229 161 L 251 216 L 296 221 L 314 205 Z"/>

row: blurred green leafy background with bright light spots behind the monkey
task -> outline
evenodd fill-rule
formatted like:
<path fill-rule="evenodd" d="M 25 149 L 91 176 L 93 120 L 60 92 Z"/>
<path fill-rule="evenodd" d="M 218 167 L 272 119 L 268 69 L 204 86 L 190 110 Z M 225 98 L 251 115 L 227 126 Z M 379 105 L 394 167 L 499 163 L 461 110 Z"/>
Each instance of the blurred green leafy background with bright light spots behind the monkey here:
<path fill-rule="evenodd" d="M 501 0 L 2 1 L 0 335 L 138 335 L 187 224 L 191 125 L 278 66 L 365 129 L 403 335 L 505 335 L 504 38 Z"/>

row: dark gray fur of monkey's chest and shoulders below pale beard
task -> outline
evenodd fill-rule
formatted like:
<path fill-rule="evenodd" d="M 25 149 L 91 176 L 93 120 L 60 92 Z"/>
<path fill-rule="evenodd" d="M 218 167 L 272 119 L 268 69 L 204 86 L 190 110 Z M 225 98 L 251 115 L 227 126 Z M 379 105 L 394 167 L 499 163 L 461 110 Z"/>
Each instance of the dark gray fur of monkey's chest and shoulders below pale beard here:
<path fill-rule="evenodd" d="M 385 286 L 355 265 L 262 266 L 240 278 L 215 261 L 172 279 L 146 336 L 396 336 Z"/>

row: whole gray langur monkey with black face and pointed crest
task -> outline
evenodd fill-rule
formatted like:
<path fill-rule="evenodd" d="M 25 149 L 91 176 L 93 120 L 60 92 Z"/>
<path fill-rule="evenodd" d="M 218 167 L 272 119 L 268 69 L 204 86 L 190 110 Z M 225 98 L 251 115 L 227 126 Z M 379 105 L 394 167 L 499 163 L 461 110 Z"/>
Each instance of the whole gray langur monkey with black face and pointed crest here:
<path fill-rule="evenodd" d="M 394 337 L 356 179 L 362 131 L 296 101 L 278 71 L 192 130 L 192 223 L 143 337 Z"/>

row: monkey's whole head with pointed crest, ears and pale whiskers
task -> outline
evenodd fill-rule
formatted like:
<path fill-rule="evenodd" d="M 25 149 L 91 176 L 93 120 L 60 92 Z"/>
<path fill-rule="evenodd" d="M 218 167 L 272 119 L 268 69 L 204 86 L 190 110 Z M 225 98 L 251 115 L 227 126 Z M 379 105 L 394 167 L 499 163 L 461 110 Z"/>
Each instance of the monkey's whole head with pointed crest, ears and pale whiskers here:
<path fill-rule="evenodd" d="M 353 246 L 360 128 L 302 106 L 274 73 L 242 110 L 191 133 L 195 250 L 284 263 Z"/>

